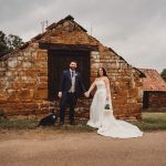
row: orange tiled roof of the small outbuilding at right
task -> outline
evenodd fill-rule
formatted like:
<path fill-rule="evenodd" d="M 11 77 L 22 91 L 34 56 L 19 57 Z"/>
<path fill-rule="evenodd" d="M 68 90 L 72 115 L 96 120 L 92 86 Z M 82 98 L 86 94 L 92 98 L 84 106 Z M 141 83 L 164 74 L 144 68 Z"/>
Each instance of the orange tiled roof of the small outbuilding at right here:
<path fill-rule="evenodd" d="M 153 69 L 139 69 L 146 77 L 143 77 L 143 90 L 144 91 L 165 91 L 166 82 L 159 75 L 156 70 Z"/>

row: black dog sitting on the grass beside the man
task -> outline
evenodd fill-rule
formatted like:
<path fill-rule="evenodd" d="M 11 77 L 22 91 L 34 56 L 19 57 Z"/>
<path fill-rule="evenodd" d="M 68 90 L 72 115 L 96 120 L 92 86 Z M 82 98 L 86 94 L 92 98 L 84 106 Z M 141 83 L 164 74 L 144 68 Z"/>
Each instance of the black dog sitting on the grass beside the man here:
<path fill-rule="evenodd" d="M 43 117 L 43 118 L 39 122 L 38 126 L 52 126 L 52 125 L 55 124 L 56 118 L 58 118 L 56 112 L 55 112 L 55 110 L 53 110 L 53 111 L 52 111 L 52 114 L 50 114 L 50 115 Z"/>

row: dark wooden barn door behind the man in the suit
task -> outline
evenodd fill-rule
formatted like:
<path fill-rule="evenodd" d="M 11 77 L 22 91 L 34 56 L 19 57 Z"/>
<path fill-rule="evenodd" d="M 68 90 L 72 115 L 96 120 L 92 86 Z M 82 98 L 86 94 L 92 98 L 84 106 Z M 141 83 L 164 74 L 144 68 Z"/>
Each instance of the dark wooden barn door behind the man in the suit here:
<path fill-rule="evenodd" d="M 77 71 L 82 75 L 85 89 L 89 89 L 90 51 L 48 50 L 48 96 L 50 101 L 58 98 L 62 72 L 69 70 L 71 61 L 77 62 Z"/>

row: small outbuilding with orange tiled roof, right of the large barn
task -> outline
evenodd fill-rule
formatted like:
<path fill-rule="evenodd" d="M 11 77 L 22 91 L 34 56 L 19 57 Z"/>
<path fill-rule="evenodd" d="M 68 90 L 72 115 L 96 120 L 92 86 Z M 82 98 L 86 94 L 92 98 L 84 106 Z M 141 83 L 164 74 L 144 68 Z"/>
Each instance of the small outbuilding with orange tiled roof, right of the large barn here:
<path fill-rule="evenodd" d="M 148 111 L 166 110 L 166 82 L 156 70 L 139 69 L 143 79 L 143 108 Z"/>

